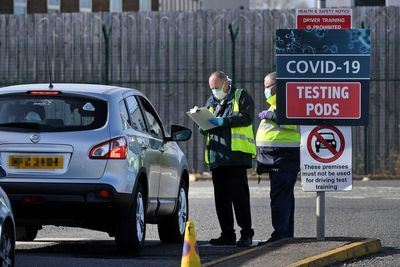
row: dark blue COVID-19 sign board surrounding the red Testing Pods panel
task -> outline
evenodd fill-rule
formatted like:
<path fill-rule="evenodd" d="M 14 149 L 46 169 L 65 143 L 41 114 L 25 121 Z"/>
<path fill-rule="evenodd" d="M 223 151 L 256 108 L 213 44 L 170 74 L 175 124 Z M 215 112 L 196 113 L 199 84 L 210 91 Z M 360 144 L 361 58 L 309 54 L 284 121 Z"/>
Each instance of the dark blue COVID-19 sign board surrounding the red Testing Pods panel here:
<path fill-rule="evenodd" d="M 370 79 L 371 40 L 368 29 L 276 31 L 277 119 L 280 124 L 300 125 L 367 125 Z M 301 119 L 288 118 L 287 83 L 310 84 L 318 90 L 318 82 L 359 82 L 361 84 L 361 117 L 343 119 L 331 114 L 314 115 Z M 294 84 L 294 85 L 293 85 Z M 329 85 L 329 84 L 328 84 Z M 344 84 L 345 88 L 345 84 Z M 343 89 L 344 90 L 344 89 Z M 290 100 L 290 101 L 289 101 Z M 327 107 L 332 99 L 313 99 L 313 105 Z M 330 104 L 329 104 L 329 103 Z M 350 99 L 351 102 L 351 99 Z M 320 104 L 319 104 L 320 103 Z M 358 102 L 359 103 L 359 102 Z M 304 105 L 304 101 L 302 102 Z M 308 105 L 308 104 L 307 104 Z M 329 110 L 327 107 L 326 110 Z M 340 114 L 340 112 L 338 112 Z M 329 117 L 329 118 L 328 118 Z"/>

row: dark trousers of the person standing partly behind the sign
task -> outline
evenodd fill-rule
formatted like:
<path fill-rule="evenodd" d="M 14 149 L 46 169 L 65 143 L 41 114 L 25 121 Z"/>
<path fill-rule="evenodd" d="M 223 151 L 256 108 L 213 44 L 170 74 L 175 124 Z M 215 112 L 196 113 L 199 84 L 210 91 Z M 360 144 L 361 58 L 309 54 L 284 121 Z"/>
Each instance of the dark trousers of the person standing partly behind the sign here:
<path fill-rule="evenodd" d="M 271 237 L 293 237 L 294 232 L 294 185 L 296 172 L 269 172 L 271 182 L 271 217 L 274 228 Z"/>

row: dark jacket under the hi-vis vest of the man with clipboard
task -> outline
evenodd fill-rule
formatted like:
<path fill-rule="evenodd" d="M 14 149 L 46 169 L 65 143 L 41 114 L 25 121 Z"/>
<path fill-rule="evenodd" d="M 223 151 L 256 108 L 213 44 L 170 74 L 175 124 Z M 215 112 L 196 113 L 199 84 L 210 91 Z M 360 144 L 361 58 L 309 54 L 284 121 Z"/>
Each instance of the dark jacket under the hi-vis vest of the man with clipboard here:
<path fill-rule="evenodd" d="M 233 113 L 234 87 L 231 87 L 229 95 L 221 102 L 211 96 L 206 107 L 214 108 L 214 115 L 224 118 L 222 127 L 208 131 L 210 134 L 209 160 L 210 169 L 219 166 L 244 166 L 251 168 L 252 155 L 240 151 L 231 150 L 231 128 L 252 125 L 254 121 L 254 102 L 251 96 L 242 91 L 239 99 L 239 112 Z"/>

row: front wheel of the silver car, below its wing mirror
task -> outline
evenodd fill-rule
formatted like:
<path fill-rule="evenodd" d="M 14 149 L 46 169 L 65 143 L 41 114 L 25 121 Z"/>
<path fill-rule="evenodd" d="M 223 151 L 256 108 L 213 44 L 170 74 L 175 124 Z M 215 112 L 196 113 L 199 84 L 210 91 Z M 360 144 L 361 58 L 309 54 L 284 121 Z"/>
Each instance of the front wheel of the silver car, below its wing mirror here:
<path fill-rule="evenodd" d="M 180 243 L 185 237 L 189 217 L 188 187 L 182 180 L 178 192 L 178 206 L 173 215 L 158 223 L 158 235 L 163 243 Z"/>

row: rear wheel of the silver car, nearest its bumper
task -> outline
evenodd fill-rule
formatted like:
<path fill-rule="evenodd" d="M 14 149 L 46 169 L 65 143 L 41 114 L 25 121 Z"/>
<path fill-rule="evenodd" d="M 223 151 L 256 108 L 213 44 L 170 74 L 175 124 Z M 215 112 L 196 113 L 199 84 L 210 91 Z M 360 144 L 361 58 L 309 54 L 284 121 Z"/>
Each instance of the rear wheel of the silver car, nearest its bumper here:
<path fill-rule="evenodd" d="M 133 194 L 132 205 L 127 216 L 117 224 L 115 242 L 124 253 L 139 252 L 146 237 L 146 201 L 142 185 L 139 183 Z"/>

